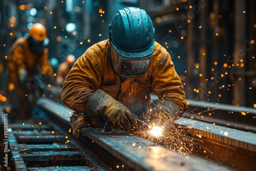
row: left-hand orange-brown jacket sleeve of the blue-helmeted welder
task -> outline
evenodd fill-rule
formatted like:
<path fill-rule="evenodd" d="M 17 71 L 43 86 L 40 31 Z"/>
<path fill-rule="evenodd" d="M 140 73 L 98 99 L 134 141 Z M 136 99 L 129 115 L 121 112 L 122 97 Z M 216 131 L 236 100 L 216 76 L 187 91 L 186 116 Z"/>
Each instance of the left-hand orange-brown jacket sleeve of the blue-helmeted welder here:
<path fill-rule="evenodd" d="M 86 54 L 83 54 L 74 63 L 61 91 L 61 100 L 70 109 L 86 113 L 89 97 L 100 87 L 99 63 L 93 61 Z"/>

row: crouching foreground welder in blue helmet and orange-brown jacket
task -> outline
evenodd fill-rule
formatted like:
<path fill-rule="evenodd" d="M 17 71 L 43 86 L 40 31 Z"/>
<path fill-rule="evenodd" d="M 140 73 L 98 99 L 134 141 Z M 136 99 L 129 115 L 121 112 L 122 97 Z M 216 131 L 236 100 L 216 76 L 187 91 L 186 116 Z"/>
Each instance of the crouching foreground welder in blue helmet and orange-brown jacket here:
<path fill-rule="evenodd" d="M 178 118 L 186 105 L 183 84 L 170 54 L 155 41 L 150 16 L 135 7 L 118 10 L 108 33 L 76 60 L 63 83 L 61 100 L 76 111 L 73 135 L 106 119 L 130 129 L 137 118 Z M 153 102 L 151 93 L 159 99 Z"/>

